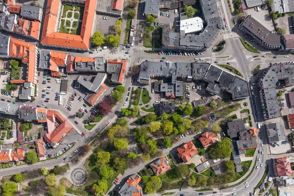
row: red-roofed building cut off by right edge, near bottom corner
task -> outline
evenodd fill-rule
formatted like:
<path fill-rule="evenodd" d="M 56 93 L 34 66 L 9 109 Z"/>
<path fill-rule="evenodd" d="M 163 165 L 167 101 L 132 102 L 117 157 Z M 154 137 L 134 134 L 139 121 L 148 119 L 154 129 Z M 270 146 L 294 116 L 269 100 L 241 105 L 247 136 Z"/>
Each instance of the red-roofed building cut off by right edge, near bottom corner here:
<path fill-rule="evenodd" d="M 279 177 L 294 174 L 291 169 L 290 159 L 286 156 L 273 159 L 273 168 L 275 175 Z"/>

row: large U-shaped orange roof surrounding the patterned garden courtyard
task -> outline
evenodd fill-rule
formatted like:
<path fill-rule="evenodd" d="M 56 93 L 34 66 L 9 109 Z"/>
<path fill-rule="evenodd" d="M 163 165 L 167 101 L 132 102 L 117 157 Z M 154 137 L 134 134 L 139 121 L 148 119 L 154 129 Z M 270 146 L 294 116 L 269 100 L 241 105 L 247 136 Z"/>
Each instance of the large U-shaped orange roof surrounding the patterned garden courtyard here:
<path fill-rule="evenodd" d="M 55 32 L 55 26 L 56 23 L 58 23 L 57 15 L 59 12 L 59 3 L 60 0 L 48 0 L 47 2 L 41 44 L 89 49 L 97 1 L 86 0 L 80 35 Z"/>

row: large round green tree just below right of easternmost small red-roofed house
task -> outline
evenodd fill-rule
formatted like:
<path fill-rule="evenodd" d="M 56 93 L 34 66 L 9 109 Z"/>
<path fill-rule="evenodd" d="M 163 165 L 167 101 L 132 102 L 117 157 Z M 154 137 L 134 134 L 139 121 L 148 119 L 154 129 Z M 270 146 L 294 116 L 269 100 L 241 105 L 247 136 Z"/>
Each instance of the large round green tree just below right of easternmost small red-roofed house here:
<path fill-rule="evenodd" d="M 222 139 L 217 145 L 214 145 L 209 150 L 209 156 L 213 159 L 221 159 L 230 157 L 232 148 L 230 147 L 230 138 Z"/>

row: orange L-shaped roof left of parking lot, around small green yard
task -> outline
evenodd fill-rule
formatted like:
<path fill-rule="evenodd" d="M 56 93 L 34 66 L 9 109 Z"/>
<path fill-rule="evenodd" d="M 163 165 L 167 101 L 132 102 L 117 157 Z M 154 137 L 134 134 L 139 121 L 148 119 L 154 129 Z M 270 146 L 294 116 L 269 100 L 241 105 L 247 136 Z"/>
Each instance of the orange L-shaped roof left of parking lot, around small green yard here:
<path fill-rule="evenodd" d="M 26 81 L 35 84 L 36 46 L 15 38 L 11 38 L 9 50 L 9 56 L 22 58 L 23 63 L 28 63 Z"/>

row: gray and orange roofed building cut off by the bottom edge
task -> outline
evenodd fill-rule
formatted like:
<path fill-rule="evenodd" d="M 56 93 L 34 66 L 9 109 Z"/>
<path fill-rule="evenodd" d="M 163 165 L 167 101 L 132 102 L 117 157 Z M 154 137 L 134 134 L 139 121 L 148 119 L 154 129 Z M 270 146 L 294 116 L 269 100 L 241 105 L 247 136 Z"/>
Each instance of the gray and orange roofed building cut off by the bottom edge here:
<path fill-rule="evenodd" d="M 119 191 L 120 196 L 143 196 L 142 187 L 139 185 L 140 181 L 141 176 L 136 173 L 131 175 Z"/>

